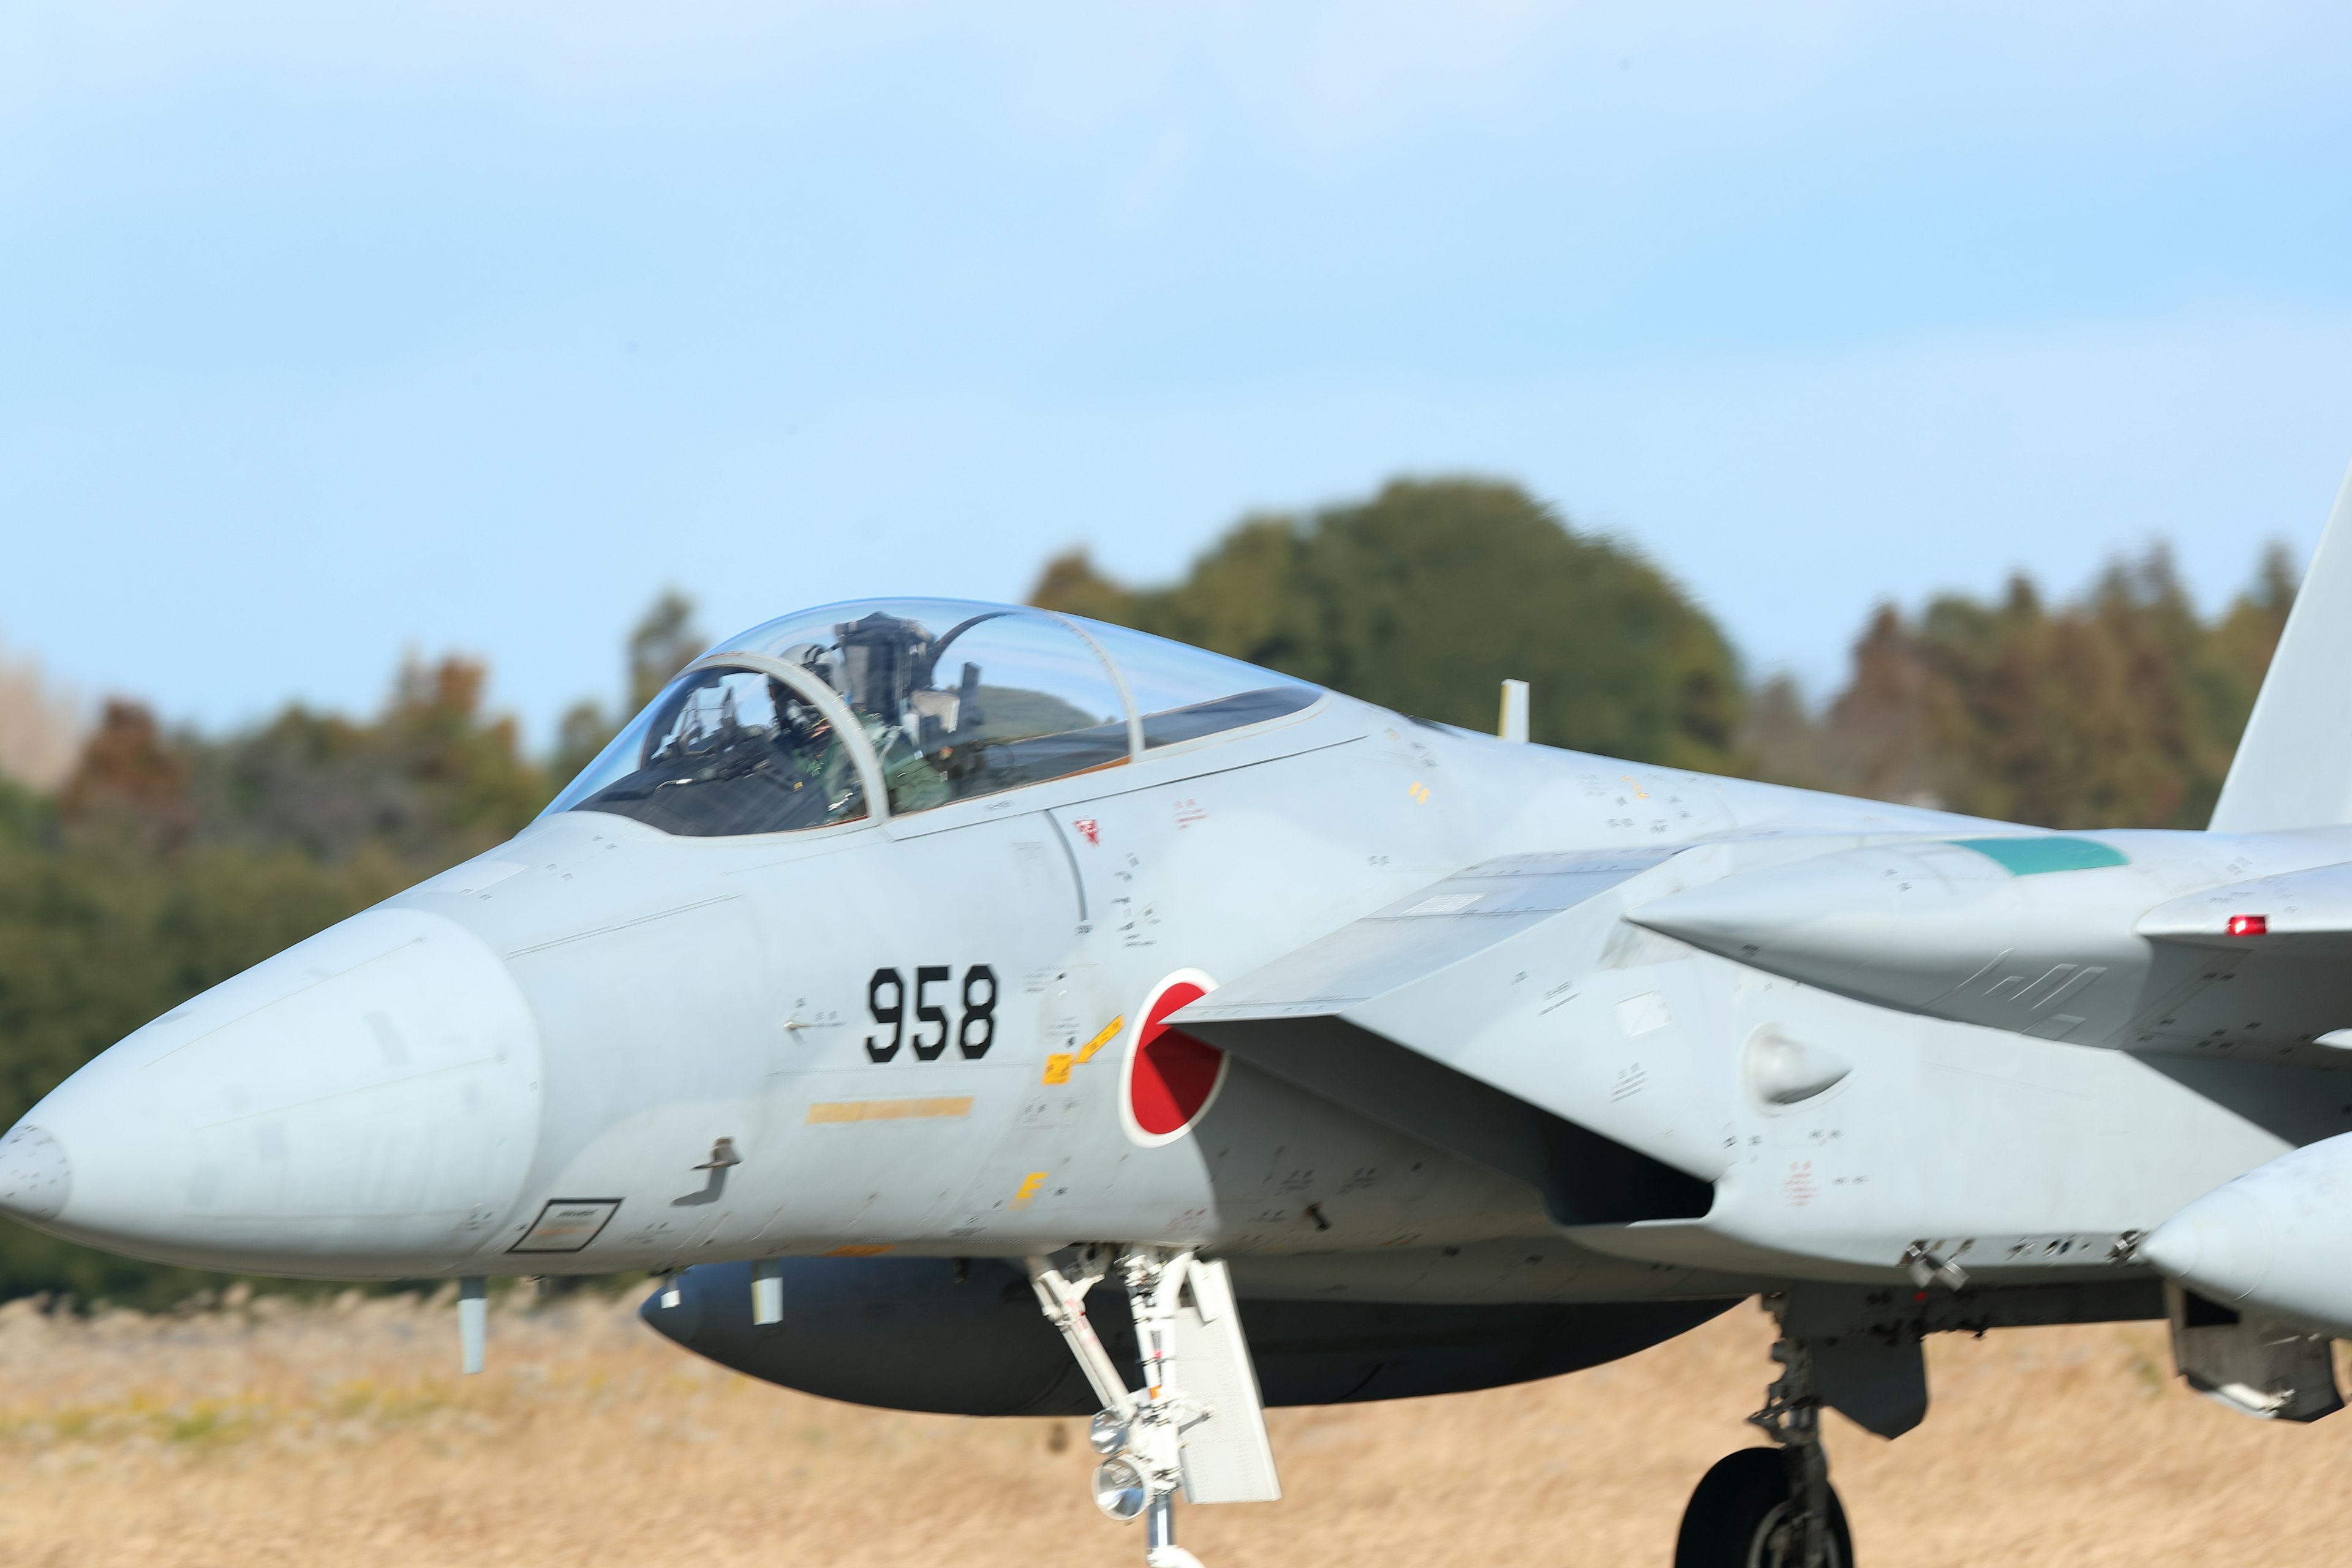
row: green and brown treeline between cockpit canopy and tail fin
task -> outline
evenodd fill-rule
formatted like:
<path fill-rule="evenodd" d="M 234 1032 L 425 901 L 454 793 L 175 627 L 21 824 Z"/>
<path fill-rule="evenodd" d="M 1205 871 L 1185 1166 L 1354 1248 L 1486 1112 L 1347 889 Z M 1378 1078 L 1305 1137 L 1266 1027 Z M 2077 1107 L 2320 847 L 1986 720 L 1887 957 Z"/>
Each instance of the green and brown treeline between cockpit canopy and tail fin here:
<path fill-rule="evenodd" d="M 1477 480 L 1247 517 L 1152 588 L 1073 550 L 1033 602 L 1470 729 L 1494 729 L 1498 682 L 1526 679 L 1548 745 L 2044 827 L 2204 827 L 2296 581 L 2272 548 L 2204 618 L 2154 548 L 2079 599 L 2016 576 L 1994 602 L 1884 604 L 1820 705 L 1785 677 L 1750 684 L 1637 550 Z"/>

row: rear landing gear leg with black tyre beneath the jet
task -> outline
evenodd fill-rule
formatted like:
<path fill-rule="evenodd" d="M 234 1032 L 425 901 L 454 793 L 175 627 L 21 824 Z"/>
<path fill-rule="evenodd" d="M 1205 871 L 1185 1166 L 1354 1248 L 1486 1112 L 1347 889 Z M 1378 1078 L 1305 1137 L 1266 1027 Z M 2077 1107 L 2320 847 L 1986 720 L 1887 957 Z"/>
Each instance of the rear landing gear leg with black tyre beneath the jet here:
<path fill-rule="evenodd" d="M 1780 1378 L 1748 1420 L 1776 1448 L 1740 1448 L 1698 1481 L 1675 1537 L 1675 1568 L 1853 1568 L 1846 1509 L 1820 1446 L 1813 1352 L 1788 1338 L 1785 1319 L 1771 1359 Z"/>

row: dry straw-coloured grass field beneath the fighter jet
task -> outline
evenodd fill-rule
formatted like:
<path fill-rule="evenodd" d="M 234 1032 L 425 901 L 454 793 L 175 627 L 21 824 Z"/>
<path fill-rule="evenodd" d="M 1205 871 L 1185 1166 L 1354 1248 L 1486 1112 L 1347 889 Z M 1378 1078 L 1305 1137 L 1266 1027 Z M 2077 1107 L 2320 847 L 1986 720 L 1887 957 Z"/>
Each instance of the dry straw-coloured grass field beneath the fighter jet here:
<path fill-rule="evenodd" d="M 1748 1441 L 1766 1321 L 1548 1385 L 1282 1410 L 1287 1502 L 1192 1509 L 1211 1568 L 1665 1563 L 1700 1469 Z M 0 1561 L 1141 1563 L 1084 1500 L 1077 1422 L 891 1415 L 684 1356 L 633 1302 L 501 1305 L 452 1375 L 447 1307 L 193 1316 L 0 1309 Z M 2169 1375 L 2161 1331 L 1933 1345 L 1936 1415 L 1839 1425 L 1858 1552 L 1905 1563 L 2319 1563 L 2352 1418 L 2274 1427 Z M 1056 1446 L 1056 1427 L 1061 1441 Z"/>

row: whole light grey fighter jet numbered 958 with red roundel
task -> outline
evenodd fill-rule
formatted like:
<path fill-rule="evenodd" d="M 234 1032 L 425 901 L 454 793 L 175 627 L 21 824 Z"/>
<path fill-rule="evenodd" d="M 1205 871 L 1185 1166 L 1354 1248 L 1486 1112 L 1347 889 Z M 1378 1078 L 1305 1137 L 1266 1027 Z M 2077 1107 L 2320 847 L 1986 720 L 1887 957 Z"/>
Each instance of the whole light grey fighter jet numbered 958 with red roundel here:
<path fill-rule="evenodd" d="M 468 1371 L 487 1276 L 656 1269 L 654 1328 L 774 1382 L 1091 1413 L 1155 1568 L 1178 1493 L 1279 1493 L 1268 1403 L 1762 1298 L 1769 1446 L 1675 1561 L 1851 1563 L 1820 1410 L 1910 1429 L 1929 1333 L 2169 1319 L 2216 1399 L 2338 1408 L 2347 611 L 2352 489 L 2211 832 L 1609 762 L 1035 609 L 786 616 L 503 849 L 82 1067 L 0 1206 L 461 1279 Z"/>

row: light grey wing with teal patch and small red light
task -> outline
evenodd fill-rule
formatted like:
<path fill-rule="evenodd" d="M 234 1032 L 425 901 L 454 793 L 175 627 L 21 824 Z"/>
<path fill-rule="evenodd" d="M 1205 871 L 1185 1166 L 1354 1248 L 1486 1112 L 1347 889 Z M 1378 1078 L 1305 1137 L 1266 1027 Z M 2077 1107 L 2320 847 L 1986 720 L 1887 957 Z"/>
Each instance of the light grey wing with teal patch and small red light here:
<path fill-rule="evenodd" d="M 2352 1067 L 2328 1039 L 2352 1030 L 2352 863 L 2244 879 L 2232 856 L 2227 839 L 2152 835 L 1879 844 L 1672 891 L 1628 919 L 1931 1018 Z M 2178 893 L 2197 882 L 2211 886 Z"/>

